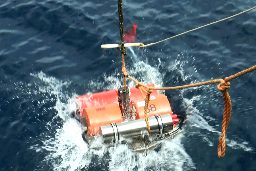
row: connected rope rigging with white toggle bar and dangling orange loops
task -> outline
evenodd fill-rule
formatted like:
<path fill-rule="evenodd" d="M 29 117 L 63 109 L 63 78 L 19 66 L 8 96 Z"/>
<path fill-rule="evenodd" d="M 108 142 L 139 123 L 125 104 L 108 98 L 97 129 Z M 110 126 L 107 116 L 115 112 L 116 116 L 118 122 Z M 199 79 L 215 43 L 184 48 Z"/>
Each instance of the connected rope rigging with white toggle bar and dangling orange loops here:
<path fill-rule="evenodd" d="M 143 43 L 127 43 L 127 44 L 125 44 L 125 42 L 123 40 L 123 8 L 122 8 L 122 0 L 117 0 L 117 1 L 118 1 L 119 30 L 120 30 L 121 42 L 119 42 L 118 44 L 102 45 L 101 47 L 102 48 L 117 48 L 121 52 L 121 54 L 122 54 L 122 73 L 123 73 L 124 87 L 126 87 L 126 77 L 130 78 L 131 80 L 133 80 L 136 83 L 135 87 L 139 89 L 143 99 L 145 100 L 144 117 L 145 117 L 145 122 L 146 122 L 146 125 L 147 125 L 148 132 L 150 133 L 151 131 L 150 131 L 149 123 L 148 123 L 147 108 L 148 108 L 148 103 L 150 101 L 150 94 L 153 92 L 153 90 L 184 89 L 184 88 L 189 88 L 189 87 L 197 87 L 197 86 L 204 86 L 204 85 L 219 83 L 217 88 L 218 88 L 219 91 L 222 92 L 222 95 L 223 95 L 224 111 L 223 111 L 223 119 L 222 119 L 221 136 L 220 136 L 219 143 L 218 143 L 218 156 L 220 158 L 224 157 L 225 156 L 225 152 L 226 152 L 226 132 L 227 132 L 228 124 L 229 124 L 230 117 L 231 117 L 231 111 L 232 111 L 232 103 L 231 103 L 230 95 L 228 94 L 228 91 L 227 91 L 227 89 L 230 88 L 230 82 L 229 81 L 233 80 L 234 78 L 237 78 L 239 76 L 242 76 L 244 74 L 247 74 L 249 72 L 252 72 L 252 71 L 256 70 L 256 65 L 254 65 L 254 66 L 252 66 L 250 68 L 247 68 L 247 69 L 245 69 L 245 70 L 243 70 L 241 72 L 238 72 L 238 73 L 236 73 L 234 75 L 226 77 L 224 80 L 220 78 L 220 79 L 215 79 L 215 80 L 209 80 L 209 81 L 206 81 L 206 82 L 199 82 L 199 83 L 187 84 L 187 85 L 183 85 L 183 86 L 174 86 L 174 87 L 148 87 L 145 84 L 143 84 L 142 82 L 139 82 L 138 80 L 136 80 L 135 78 L 131 77 L 128 74 L 128 72 L 127 72 L 127 70 L 125 68 L 125 58 L 124 58 L 125 55 L 126 55 L 125 47 L 129 47 L 129 46 L 139 46 L 139 47 L 152 46 L 153 44 L 157 44 L 157 43 L 169 40 L 171 38 L 174 38 L 174 37 L 186 34 L 188 32 L 197 30 L 199 28 L 203 28 L 203 27 L 206 27 L 206 26 L 209 26 L 209 25 L 212 25 L 212 24 L 215 24 L 215 23 L 218 23 L 218 22 L 221 22 L 221 21 L 224 21 L 224 20 L 236 17 L 236 16 L 238 16 L 240 14 L 243 14 L 243 13 L 246 13 L 248 11 L 251 11 L 251 10 L 255 9 L 256 6 L 250 8 L 250 9 L 247 9 L 247 10 L 241 12 L 241 13 L 238 13 L 236 15 L 232 15 L 230 17 L 221 19 L 219 21 L 215 21 L 213 23 L 209 23 L 209 24 L 201 26 L 201 27 L 197 27 L 195 29 L 183 32 L 183 33 L 178 34 L 176 36 L 172 36 L 170 38 L 167 38 L 167 39 L 155 42 L 155 43 L 150 43 L 150 44 L 144 45 Z M 143 87 L 145 87 L 146 89 L 144 89 Z M 146 93 L 146 97 L 144 96 L 143 92 Z"/>

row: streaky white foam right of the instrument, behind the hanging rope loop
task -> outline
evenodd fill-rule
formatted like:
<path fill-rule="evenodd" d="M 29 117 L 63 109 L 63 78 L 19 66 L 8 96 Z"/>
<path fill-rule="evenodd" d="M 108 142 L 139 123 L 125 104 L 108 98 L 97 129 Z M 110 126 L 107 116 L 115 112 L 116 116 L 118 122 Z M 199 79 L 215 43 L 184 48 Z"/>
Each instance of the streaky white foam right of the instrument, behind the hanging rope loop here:
<path fill-rule="evenodd" d="M 181 53 L 181 55 L 179 54 L 177 56 L 177 58 L 181 58 L 184 54 Z M 184 57 L 182 57 L 184 58 Z M 172 67 L 171 65 L 169 65 L 169 70 L 170 71 L 178 71 L 181 74 L 181 78 L 183 81 L 187 80 L 189 77 L 191 77 L 192 75 L 188 75 L 186 76 L 185 69 L 186 66 L 188 64 L 187 60 L 184 61 L 180 61 L 178 59 L 175 60 L 175 62 L 171 62 L 175 67 Z M 197 70 L 196 68 L 194 68 L 195 70 Z M 195 83 L 195 81 L 191 82 L 191 83 Z M 203 141 L 205 141 L 209 146 L 214 146 L 215 144 L 218 144 L 219 141 L 219 137 L 221 135 L 221 130 L 217 131 L 213 126 L 210 126 L 209 123 L 206 121 L 206 118 L 210 121 L 215 121 L 215 119 L 213 117 L 210 116 L 205 116 L 208 113 L 204 113 L 203 111 L 200 111 L 197 106 L 195 105 L 195 103 L 199 104 L 199 105 L 203 105 L 205 103 L 206 100 L 209 99 L 209 97 L 212 99 L 212 96 L 216 96 L 216 94 L 213 94 L 212 92 L 214 92 L 213 87 L 210 87 L 209 85 L 207 86 L 198 86 L 198 87 L 191 87 L 191 88 L 187 88 L 187 89 L 182 89 L 181 93 L 184 94 L 186 92 L 190 92 L 193 89 L 203 89 L 204 91 L 207 89 L 210 89 L 210 96 L 205 95 L 205 96 L 201 96 L 201 95 L 195 95 L 193 96 L 191 99 L 187 99 L 187 98 L 183 98 L 182 104 L 183 107 L 186 109 L 186 120 L 185 122 L 187 123 L 189 129 L 191 129 L 191 127 L 196 127 L 198 128 L 197 130 L 195 129 L 191 129 L 192 132 L 187 130 L 187 133 L 191 134 L 191 135 L 195 135 L 198 137 L 201 137 Z M 207 91 L 207 93 L 209 93 L 209 90 Z M 211 101 L 212 106 L 217 108 L 217 104 L 219 103 L 219 99 L 212 99 Z M 223 102 L 222 102 L 223 103 Z M 205 129 L 208 132 L 204 133 L 201 130 Z M 212 137 L 210 133 L 214 133 L 216 136 Z M 233 137 L 232 137 L 233 138 Z M 240 143 L 238 143 L 240 142 Z M 229 138 L 226 135 L 226 144 L 228 146 L 230 146 L 231 148 L 234 149 L 242 149 L 244 151 L 253 151 L 254 148 L 248 146 L 248 142 L 243 141 L 240 138 L 236 138 L 236 141 L 231 139 L 229 140 Z"/>

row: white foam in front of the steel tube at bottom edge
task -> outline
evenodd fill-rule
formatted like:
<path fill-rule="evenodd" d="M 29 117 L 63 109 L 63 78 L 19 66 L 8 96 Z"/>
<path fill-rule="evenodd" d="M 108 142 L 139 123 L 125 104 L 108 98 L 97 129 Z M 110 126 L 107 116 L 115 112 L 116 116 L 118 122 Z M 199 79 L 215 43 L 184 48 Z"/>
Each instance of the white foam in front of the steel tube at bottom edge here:
<path fill-rule="evenodd" d="M 181 144 L 182 136 L 179 134 L 172 140 L 163 141 L 162 148 L 158 152 L 150 150 L 146 156 L 132 152 L 125 145 L 111 148 L 109 151 L 112 160 L 109 163 L 109 168 L 113 171 L 191 170 L 195 166 Z"/>

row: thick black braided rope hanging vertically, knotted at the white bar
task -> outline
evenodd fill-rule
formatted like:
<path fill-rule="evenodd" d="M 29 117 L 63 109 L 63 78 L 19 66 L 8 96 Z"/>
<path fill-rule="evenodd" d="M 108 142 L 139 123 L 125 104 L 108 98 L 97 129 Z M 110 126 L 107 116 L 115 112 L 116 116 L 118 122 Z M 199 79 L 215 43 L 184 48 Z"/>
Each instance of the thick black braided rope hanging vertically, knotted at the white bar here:
<path fill-rule="evenodd" d="M 120 30 L 120 42 L 121 49 L 117 48 L 121 53 L 126 55 L 126 49 L 124 47 L 125 41 L 123 40 L 123 3 L 122 0 L 117 0 L 118 2 L 118 17 L 119 17 L 119 30 Z"/>

